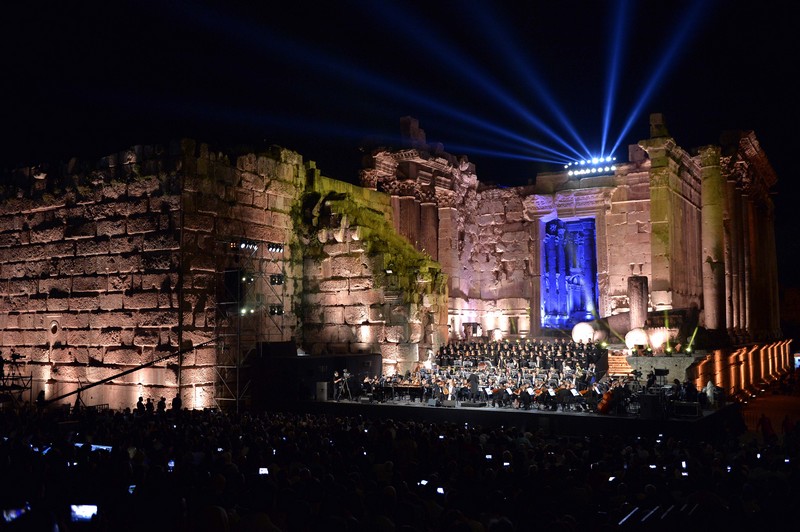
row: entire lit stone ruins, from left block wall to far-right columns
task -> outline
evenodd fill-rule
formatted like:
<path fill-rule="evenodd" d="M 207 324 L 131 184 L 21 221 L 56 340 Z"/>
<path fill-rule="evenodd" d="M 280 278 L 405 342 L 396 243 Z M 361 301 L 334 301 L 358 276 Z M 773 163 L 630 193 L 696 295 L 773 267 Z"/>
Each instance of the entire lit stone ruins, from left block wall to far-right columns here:
<path fill-rule="evenodd" d="M 0 350 L 32 377 L 25 399 L 225 407 L 287 348 L 404 372 L 456 338 L 583 321 L 686 336 L 673 313 L 780 338 L 776 178 L 752 133 L 690 154 L 654 115 L 613 172 L 500 188 L 403 124 L 408 146 L 376 150 L 361 187 L 289 150 L 188 140 L 5 176 Z"/>

